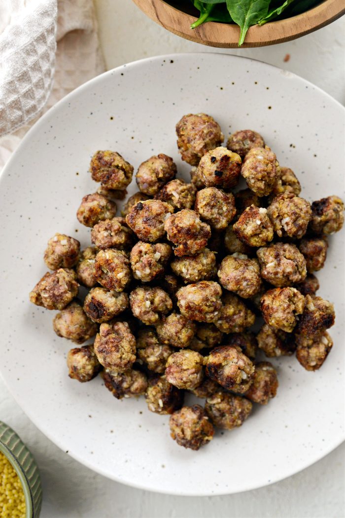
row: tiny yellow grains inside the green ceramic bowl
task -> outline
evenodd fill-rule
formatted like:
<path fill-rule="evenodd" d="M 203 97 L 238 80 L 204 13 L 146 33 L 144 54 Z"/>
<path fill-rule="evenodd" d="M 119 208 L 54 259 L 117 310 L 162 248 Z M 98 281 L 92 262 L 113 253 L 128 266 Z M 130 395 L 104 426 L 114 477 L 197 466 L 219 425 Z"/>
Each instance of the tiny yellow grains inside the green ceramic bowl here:
<path fill-rule="evenodd" d="M 22 484 L 11 463 L 0 452 L 0 518 L 25 518 Z"/>

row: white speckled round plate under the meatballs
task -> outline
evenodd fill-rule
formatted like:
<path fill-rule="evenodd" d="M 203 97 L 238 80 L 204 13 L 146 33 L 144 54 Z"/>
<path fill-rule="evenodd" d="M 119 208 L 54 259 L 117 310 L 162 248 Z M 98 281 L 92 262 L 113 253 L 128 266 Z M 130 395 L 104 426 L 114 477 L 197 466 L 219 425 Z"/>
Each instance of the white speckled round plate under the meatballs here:
<path fill-rule="evenodd" d="M 294 357 L 275 359 L 277 397 L 199 452 L 178 447 L 168 417 L 149 412 L 143 398 L 117 401 L 100 377 L 70 380 L 65 357 L 72 344 L 54 334 L 55 312 L 29 304 L 28 292 L 46 271 L 48 238 L 58 231 L 89 243 L 76 209 L 96 190 L 87 172 L 92 153 L 114 149 L 137 168 L 164 152 L 186 174 L 175 123 L 200 111 L 226 135 L 243 128 L 262 133 L 281 165 L 296 172 L 307 199 L 344 195 L 343 108 L 291 73 L 224 54 L 159 56 L 89 81 L 38 121 L 0 184 L 0 353 L 11 392 L 44 434 L 86 466 L 177 495 L 235 493 L 278 481 L 344 438 L 343 233 L 331 237 L 318 274 L 320 294 L 334 301 L 338 315 L 326 363 L 307 372 Z"/>

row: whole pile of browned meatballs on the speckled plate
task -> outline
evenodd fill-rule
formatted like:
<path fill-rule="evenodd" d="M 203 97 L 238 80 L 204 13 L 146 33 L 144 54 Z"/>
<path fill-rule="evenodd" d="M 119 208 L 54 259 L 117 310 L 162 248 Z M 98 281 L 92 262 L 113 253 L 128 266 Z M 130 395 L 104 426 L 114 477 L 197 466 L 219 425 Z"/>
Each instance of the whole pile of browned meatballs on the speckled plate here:
<path fill-rule="evenodd" d="M 114 151 L 94 154 L 89 171 L 100 186 L 77 211 L 92 246 L 81 251 L 78 240 L 55 234 L 44 252 L 51 271 L 29 297 L 58 311 L 58 336 L 94 339 L 69 351 L 71 378 L 100 373 L 116 398 L 144 395 L 148 410 L 171 414 L 171 437 L 198 450 L 214 427 L 241 426 L 253 403 L 276 395 L 276 369 L 258 361 L 258 350 L 295 353 L 309 371 L 324 363 L 335 313 L 316 295 L 314 272 L 344 207 L 337 196 L 312 204 L 299 196 L 294 172 L 254 131 L 222 146 L 219 124 L 198 113 L 182 117 L 176 133 L 190 182 L 176 178 L 171 157 L 152 156 L 121 216 L 116 200 L 125 199 L 133 167 Z M 247 188 L 234 192 L 241 177 Z M 188 392 L 204 405 L 185 406 Z"/>

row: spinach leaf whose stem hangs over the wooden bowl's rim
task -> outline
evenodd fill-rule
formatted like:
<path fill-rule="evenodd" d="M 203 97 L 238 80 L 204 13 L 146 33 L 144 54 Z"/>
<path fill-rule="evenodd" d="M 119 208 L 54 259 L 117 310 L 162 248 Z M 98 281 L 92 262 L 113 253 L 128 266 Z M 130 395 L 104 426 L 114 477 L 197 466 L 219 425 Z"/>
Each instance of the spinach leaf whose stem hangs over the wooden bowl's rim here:
<path fill-rule="evenodd" d="M 267 16 L 269 3 L 270 0 L 227 0 L 230 16 L 241 28 L 238 47 L 243 44 L 249 27 Z"/>

